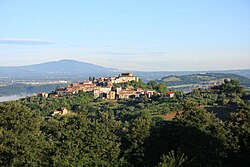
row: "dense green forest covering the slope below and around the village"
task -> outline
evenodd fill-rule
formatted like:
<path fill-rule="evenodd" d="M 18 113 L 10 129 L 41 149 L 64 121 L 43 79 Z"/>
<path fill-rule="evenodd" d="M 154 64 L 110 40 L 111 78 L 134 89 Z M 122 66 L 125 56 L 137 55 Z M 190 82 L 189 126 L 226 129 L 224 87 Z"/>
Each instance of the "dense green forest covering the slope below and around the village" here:
<path fill-rule="evenodd" d="M 234 167 L 250 164 L 250 92 L 237 80 L 143 99 L 32 96 L 0 103 L 0 166 Z M 51 112 L 66 107 L 67 115 Z M 174 119 L 164 116 L 176 112 Z"/>

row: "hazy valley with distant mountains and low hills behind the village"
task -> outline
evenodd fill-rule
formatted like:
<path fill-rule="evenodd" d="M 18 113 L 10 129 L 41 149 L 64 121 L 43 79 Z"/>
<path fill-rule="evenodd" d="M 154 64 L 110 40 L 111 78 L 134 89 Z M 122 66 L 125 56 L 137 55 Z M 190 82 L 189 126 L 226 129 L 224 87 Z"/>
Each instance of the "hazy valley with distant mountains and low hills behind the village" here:
<path fill-rule="evenodd" d="M 105 68 L 74 60 L 60 60 L 21 67 L 0 67 L 0 97 L 9 95 L 50 92 L 57 86 L 84 82 L 89 77 L 117 76 L 124 70 Z M 197 88 L 209 88 L 223 83 L 224 79 L 236 79 L 250 86 L 250 70 L 228 71 L 132 71 L 143 82 L 152 80 L 165 83 L 169 89 L 190 92 Z"/>

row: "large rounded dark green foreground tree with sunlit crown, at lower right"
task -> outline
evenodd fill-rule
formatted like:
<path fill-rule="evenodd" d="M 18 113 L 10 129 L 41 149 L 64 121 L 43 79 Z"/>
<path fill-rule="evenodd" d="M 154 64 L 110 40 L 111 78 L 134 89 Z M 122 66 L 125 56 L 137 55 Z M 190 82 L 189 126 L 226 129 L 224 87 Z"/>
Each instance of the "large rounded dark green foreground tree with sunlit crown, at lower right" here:
<path fill-rule="evenodd" d="M 174 122 L 184 127 L 179 136 L 187 139 L 180 145 L 182 152 L 195 157 L 197 163 L 220 166 L 239 148 L 238 139 L 226 124 L 206 110 L 187 111 L 177 116 Z"/>

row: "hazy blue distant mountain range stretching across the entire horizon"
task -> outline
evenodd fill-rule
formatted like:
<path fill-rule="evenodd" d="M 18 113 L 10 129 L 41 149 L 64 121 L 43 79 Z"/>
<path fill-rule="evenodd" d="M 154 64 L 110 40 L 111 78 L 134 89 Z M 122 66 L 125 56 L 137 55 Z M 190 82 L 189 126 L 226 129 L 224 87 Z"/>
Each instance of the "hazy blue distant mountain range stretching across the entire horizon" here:
<path fill-rule="evenodd" d="M 78 81 L 87 79 L 89 76 L 117 76 L 121 69 L 106 68 L 95 64 L 79 62 L 75 60 L 60 60 L 42 64 L 0 67 L 1 80 L 71 80 Z M 250 69 L 246 70 L 224 70 L 224 71 L 129 71 L 142 78 L 144 82 L 160 79 L 169 75 L 190 75 L 201 73 L 227 73 L 238 74 L 250 78 Z"/>

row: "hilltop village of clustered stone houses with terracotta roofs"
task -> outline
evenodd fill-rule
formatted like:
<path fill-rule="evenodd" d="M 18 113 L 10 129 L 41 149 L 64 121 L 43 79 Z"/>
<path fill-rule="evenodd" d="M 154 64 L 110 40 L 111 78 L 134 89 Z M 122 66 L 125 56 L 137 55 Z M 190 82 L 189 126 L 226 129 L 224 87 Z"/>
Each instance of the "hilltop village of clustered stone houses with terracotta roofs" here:
<path fill-rule="evenodd" d="M 134 88 L 132 86 L 123 88 L 120 86 L 122 83 L 135 81 L 138 82 L 139 78 L 132 73 L 121 73 L 118 77 L 101 77 L 99 79 L 90 78 L 88 81 L 68 84 L 66 87 L 57 87 L 55 91 L 51 93 L 38 93 L 41 97 L 60 98 L 67 94 L 78 94 L 82 92 L 91 92 L 94 98 L 104 99 L 128 99 L 130 97 L 140 98 L 147 96 L 150 98 L 154 91 L 143 90 L 142 88 Z M 169 92 L 169 96 L 174 94 Z"/>

